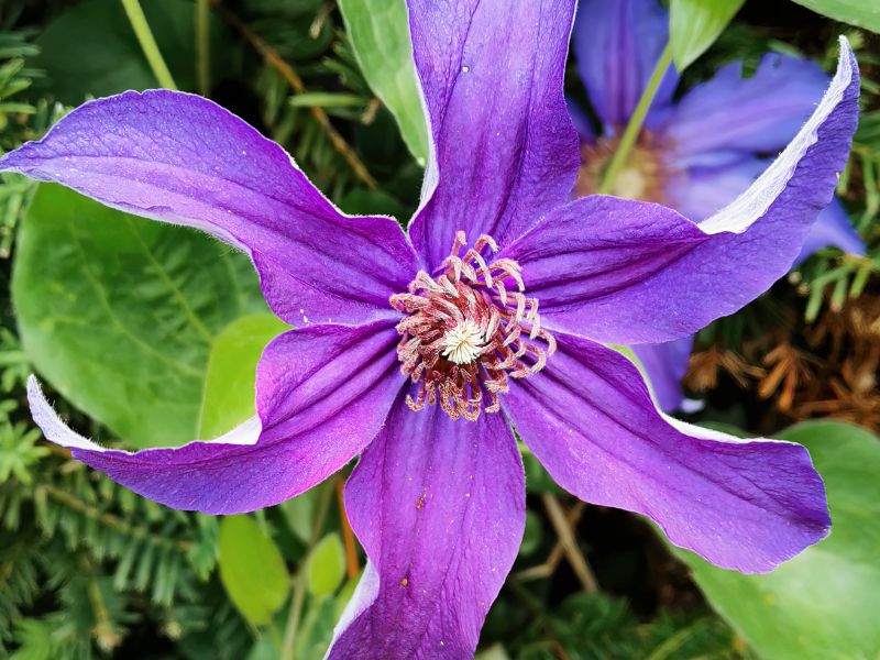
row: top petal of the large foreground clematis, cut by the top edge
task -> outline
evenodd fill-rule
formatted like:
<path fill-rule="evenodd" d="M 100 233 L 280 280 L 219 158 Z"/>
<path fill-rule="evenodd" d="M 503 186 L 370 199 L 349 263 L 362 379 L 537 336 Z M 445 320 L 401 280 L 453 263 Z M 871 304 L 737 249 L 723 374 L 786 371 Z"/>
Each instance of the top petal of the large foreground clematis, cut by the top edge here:
<path fill-rule="evenodd" d="M 410 235 L 433 268 L 458 230 L 509 241 L 563 204 L 578 135 L 562 81 L 574 0 L 409 0 L 431 123 Z"/>

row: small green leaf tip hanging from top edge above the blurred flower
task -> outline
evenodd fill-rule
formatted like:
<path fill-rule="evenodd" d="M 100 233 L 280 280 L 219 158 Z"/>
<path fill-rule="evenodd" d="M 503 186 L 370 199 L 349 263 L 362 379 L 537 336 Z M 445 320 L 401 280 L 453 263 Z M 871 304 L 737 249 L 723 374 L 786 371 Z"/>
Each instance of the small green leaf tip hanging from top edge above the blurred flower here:
<path fill-rule="evenodd" d="M 671 0 L 669 40 L 675 68 L 683 72 L 715 43 L 745 0 Z"/>

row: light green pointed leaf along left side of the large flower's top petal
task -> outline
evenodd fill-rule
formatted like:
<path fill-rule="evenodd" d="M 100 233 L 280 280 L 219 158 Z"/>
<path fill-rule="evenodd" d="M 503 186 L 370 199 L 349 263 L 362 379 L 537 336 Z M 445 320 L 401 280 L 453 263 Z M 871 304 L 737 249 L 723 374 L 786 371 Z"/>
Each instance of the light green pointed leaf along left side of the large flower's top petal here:
<path fill-rule="evenodd" d="M 364 78 L 388 107 L 410 153 L 428 162 L 428 124 L 413 59 L 406 0 L 340 0 Z"/>

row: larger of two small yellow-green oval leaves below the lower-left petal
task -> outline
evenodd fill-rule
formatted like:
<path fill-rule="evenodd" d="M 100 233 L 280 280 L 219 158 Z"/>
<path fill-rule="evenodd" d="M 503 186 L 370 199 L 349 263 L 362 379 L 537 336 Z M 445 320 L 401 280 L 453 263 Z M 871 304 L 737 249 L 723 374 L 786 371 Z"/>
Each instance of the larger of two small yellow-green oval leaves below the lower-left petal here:
<path fill-rule="evenodd" d="M 232 604 L 255 626 L 284 604 L 290 580 L 282 553 L 250 516 L 220 524 L 220 580 Z"/>

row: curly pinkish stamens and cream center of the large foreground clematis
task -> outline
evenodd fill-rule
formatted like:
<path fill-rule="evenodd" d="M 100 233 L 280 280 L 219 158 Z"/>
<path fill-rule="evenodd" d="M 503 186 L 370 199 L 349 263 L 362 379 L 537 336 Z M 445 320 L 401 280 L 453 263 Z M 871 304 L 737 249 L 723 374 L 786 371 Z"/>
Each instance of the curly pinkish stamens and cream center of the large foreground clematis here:
<path fill-rule="evenodd" d="M 483 252 L 497 251 L 487 235 L 468 249 L 459 231 L 437 276 L 419 271 L 408 293 L 391 297 L 406 315 L 397 323 L 397 356 L 417 384 L 406 399 L 413 410 L 439 404 L 452 419 L 471 421 L 483 410 L 497 413 L 508 378 L 539 372 L 556 351 L 541 328 L 538 300 L 525 294 L 519 264 L 486 262 Z"/>

